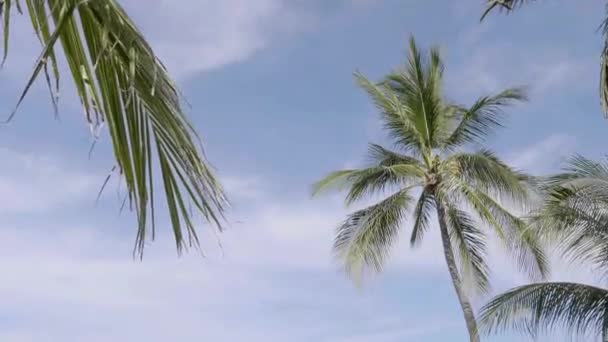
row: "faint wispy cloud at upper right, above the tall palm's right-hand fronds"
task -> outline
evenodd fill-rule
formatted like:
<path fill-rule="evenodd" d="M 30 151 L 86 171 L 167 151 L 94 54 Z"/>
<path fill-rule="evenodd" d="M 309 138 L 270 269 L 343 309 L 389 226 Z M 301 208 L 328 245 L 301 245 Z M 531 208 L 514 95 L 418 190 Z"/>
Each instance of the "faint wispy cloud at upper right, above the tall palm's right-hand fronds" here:
<path fill-rule="evenodd" d="M 446 73 L 448 89 L 455 95 L 470 98 L 508 87 L 527 86 L 534 103 L 555 91 L 570 89 L 572 84 L 587 90 L 588 79 L 596 77 L 597 70 L 591 68 L 595 63 L 575 57 L 568 50 L 487 43 L 482 38 L 489 32 L 490 27 L 485 24 L 476 26 L 458 40 L 459 49 L 449 60 L 458 56 L 462 62 L 460 65 L 449 63 Z"/>

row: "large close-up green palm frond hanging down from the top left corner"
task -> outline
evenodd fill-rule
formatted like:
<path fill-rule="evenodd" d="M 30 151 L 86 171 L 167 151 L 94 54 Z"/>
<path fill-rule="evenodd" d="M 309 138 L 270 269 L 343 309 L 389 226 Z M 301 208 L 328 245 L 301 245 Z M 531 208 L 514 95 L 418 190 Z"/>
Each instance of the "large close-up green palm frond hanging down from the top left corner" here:
<path fill-rule="evenodd" d="M 190 207 L 221 230 L 226 199 L 182 109 L 181 96 L 118 1 L 0 0 L 3 62 L 17 13 L 29 16 L 42 50 L 7 121 L 41 75 L 56 109 L 62 50 L 87 122 L 95 131 L 102 125 L 108 128 L 115 169 L 137 215 L 135 252 L 141 255 L 146 240 L 155 235 L 157 177 L 162 179 L 178 252 L 198 247 Z M 155 165 L 159 175 L 153 174 Z"/>

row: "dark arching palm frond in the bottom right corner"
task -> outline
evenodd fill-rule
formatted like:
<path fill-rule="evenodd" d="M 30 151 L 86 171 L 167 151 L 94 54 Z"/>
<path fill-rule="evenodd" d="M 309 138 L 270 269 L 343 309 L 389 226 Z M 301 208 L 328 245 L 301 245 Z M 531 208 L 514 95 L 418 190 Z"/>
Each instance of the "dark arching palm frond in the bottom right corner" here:
<path fill-rule="evenodd" d="M 602 336 L 608 328 L 608 292 L 575 283 L 542 283 L 499 295 L 481 309 L 486 333 L 516 330 L 536 337 L 565 327 L 575 337 Z M 605 336 L 602 337 L 605 340 Z"/>

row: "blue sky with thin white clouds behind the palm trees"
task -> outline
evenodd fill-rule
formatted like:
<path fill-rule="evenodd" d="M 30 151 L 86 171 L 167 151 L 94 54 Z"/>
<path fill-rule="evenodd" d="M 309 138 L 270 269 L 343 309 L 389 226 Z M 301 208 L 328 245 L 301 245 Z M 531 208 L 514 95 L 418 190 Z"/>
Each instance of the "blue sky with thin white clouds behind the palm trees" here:
<path fill-rule="evenodd" d="M 573 152 L 605 153 L 601 4 L 546 1 L 479 24 L 481 1 L 122 3 L 192 104 L 233 202 L 230 229 L 220 251 L 201 226 L 206 258 L 177 258 L 165 235 L 133 261 L 134 219 L 118 213 L 118 183 L 95 204 L 113 165 L 107 137 L 89 159 L 67 76 L 59 121 L 39 84 L 0 127 L 1 341 L 465 341 L 436 235 L 415 251 L 397 246 L 387 272 L 358 289 L 330 254 L 349 209 L 339 196 L 309 198 L 312 182 L 383 141 L 352 73 L 375 79 L 396 67 L 410 34 L 441 47 L 450 98 L 530 86 L 531 102 L 490 142 L 512 164 L 547 173 Z M 0 72 L 7 113 L 38 52 L 17 20 Z M 493 254 L 496 291 L 524 282 Z M 595 281 L 563 263 L 555 272 Z"/>

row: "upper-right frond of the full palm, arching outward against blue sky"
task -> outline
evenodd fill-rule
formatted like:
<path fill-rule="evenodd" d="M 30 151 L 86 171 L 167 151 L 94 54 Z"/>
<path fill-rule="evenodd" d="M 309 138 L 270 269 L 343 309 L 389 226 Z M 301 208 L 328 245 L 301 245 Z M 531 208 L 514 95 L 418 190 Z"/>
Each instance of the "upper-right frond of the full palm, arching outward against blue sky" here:
<path fill-rule="evenodd" d="M 444 145 L 447 148 L 469 143 L 482 143 L 501 128 L 505 121 L 504 109 L 528 99 L 524 88 L 510 88 L 502 92 L 479 98 L 470 108 L 454 106 L 452 121 L 455 128 Z"/>

